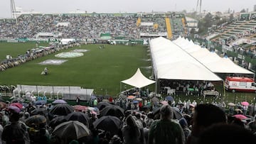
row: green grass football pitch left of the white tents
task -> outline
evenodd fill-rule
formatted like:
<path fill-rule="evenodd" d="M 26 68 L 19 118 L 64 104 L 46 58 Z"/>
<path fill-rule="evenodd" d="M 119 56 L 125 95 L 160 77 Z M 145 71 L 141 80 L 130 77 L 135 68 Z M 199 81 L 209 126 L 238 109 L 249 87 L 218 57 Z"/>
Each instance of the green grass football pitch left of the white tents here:
<path fill-rule="evenodd" d="M 48 43 L 40 43 L 45 46 Z M 0 60 L 6 55 L 17 57 L 26 50 L 35 48 L 36 43 L 0 43 Z M 84 49 L 82 57 L 58 58 L 56 54 L 71 50 Z M 78 86 L 95 89 L 97 95 L 117 96 L 120 92 L 120 82 L 132 77 L 140 68 L 149 77 L 152 73 L 151 61 L 147 48 L 142 45 L 81 45 L 68 50 L 55 52 L 36 60 L 23 63 L 0 72 L 0 84 L 43 85 L 43 86 Z M 61 65 L 39 65 L 45 60 L 68 60 Z M 48 67 L 48 75 L 41 75 L 44 67 Z M 129 88 L 129 86 L 127 86 Z M 124 90 L 124 84 L 122 84 Z M 154 90 L 154 89 L 153 89 Z"/>

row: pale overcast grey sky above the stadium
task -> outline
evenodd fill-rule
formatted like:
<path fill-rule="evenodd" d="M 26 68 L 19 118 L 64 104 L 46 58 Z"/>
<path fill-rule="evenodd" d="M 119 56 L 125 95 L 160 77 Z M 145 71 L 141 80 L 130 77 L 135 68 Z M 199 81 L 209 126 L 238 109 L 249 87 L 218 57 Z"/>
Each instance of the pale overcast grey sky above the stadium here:
<path fill-rule="evenodd" d="M 198 0 L 15 0 L 16 7 L 23 11 L 41 13 L 68 13 L 87 11 L 87 13 L 119 13 L 149 11 L 192 11 Z M 252 11 L 256 0 L 202 0 L 202 11 Z M 1 0 L 0 18 L 11 17 L 10 0 Z"/>

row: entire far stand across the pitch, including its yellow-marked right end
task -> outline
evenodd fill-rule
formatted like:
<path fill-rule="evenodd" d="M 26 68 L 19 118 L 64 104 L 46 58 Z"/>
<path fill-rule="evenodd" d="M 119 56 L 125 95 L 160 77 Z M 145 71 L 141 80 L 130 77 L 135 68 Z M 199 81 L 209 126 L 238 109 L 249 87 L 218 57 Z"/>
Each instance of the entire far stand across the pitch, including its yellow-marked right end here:
<path fill-rule="evenodd" d="M 140 38 L 140 33 L 166 35 L 166 16 L 170 18 L 171 38 L 186 35 L 182 13 L 23 14 L 16 20 L 0 20 L 0 39 L 36 38 L 38 33 L 61 33 L 62 38 L 84 40 L 100 39 L 101 33 L 129 38 Z"/>

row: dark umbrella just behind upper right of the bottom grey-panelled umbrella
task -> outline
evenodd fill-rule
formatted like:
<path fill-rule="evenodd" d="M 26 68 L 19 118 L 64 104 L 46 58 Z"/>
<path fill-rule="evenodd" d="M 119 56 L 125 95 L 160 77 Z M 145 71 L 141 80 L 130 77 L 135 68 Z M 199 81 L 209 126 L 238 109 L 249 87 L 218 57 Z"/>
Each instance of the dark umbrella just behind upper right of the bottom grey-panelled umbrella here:
<path fill-rule="evenodd" d="M 69 113 L 68 116 L 65 116 L 65 119 L 67 121 L 80 121 L 81 123 L 84 123 L 85 126 L 89 126 L 90 118 L 87 116 L 87 114 L 82 113 L 80 111 Z"/>

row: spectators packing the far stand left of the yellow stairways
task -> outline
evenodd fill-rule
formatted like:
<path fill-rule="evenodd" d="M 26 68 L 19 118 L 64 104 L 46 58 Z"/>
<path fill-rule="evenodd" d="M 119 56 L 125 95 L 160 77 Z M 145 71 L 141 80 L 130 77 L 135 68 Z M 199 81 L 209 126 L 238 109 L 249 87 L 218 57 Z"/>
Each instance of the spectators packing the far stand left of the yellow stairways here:
<path fill-rule="evenodd" d="M 63 33 L 63 38 L 100 38 L 101 33 L 138 38 L 135 16 L 21 15 L 0 21 L 0 38 L 35 38 L 37 33 Z M 69 23 L 68 26 L 57 26 Z"/>

